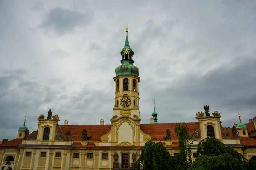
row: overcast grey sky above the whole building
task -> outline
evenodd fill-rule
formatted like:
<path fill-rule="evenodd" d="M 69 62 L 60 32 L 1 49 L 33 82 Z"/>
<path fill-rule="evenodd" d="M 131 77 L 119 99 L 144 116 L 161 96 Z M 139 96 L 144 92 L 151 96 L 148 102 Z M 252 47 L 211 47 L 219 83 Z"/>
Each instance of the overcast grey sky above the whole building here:
<path fill-rule="evenodd" d="M 64 124 L 110 124 L 114 70 L 128 23 L 141 82 L 140 118 L 223 127 L 256 116 L 254 0 L 0 0 L 0 140 L 37 129 L 49 108 Z"/>

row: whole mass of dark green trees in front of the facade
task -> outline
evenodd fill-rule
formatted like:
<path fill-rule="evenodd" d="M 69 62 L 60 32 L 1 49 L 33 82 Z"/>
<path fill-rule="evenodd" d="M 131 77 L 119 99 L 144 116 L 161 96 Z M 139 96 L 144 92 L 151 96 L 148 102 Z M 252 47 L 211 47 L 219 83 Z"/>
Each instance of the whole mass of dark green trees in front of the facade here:
<path fill-rule="evenodd" d="M 215 138 L 198 144 L 197 157 L 192 162 L 191 136 L 186 124 L 177 124 L 180 154 L 171 156 L 161 141 L 145 143 L 134 170 L 256 170 L 256 161 L 246 161 L 233 147 L 226 147 Z"/>

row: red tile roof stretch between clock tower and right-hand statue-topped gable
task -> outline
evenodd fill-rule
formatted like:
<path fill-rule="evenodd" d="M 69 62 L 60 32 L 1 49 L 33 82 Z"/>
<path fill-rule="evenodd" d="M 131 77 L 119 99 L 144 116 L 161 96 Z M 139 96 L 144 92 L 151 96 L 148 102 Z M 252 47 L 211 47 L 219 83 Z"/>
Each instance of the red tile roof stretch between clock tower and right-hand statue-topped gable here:
<path fill-rule="evenodd" d="M 189 134 L 194 133 L 198 127 L 196 122 L 186 124 L 188 125 Z M 171 131 L 171 140 L 177 141 L 178 137 L 175 133 L 175 127 L 176 123 L 140 124 L 140 129 L 143 131 L 143 133 L 150 135 L 151 138 L 158 138 L 161 141 L 165 140 L 165 133 L 167 129 Z"/>

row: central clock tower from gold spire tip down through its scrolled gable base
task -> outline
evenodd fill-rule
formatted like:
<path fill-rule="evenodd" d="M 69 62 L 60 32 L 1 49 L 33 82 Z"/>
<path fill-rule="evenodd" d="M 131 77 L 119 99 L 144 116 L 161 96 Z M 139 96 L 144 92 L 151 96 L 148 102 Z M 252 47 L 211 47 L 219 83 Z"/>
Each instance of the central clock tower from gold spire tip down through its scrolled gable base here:
<path fill-rule="evenodd" d="M 125 31 L 121 65 L 115 69 L 115 103 L 110 120 L 111 130 L 101 136 L 102 142 L 110 143 L 104 146 L 144 146 L 145 142 L 151 139 L 140 129 L 139 69 L 133 65 L 134 52 L 129 44 L 127 27 Z"/>

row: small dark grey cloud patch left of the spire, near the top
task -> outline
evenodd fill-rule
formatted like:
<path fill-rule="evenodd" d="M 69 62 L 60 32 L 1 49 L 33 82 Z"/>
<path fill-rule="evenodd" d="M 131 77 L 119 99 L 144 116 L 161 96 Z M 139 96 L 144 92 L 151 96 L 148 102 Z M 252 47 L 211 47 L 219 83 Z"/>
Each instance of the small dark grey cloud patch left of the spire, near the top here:
<path fill-rule="evenodd" d="M 64 8 L 53 8 L 45 14 L 39 28 L 53 31 L 58 35 L 73 31 L 74 28 L 87 26 L 91 23 L 92 14 L 79 13 Z"/>

